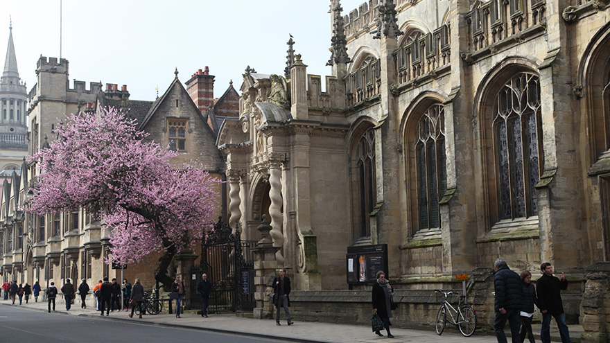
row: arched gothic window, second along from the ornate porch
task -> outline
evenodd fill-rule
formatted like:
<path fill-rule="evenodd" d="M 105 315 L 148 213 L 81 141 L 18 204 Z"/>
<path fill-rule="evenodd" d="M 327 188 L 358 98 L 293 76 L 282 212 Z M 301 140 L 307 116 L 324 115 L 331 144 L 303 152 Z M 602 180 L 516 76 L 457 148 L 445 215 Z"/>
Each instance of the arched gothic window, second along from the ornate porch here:
<path fill-rule="evenodd" d="M 435 104 L 415 127 L 419 229 L 440 227 L 439 201 L 447 191 L 444 107 Z"/>

